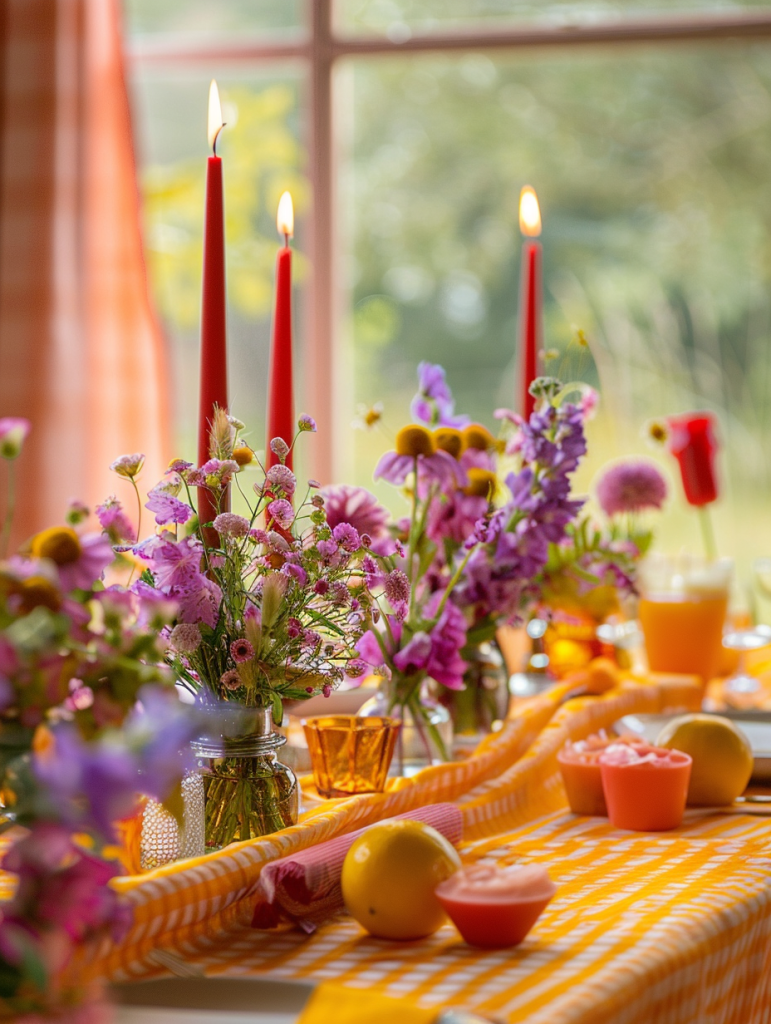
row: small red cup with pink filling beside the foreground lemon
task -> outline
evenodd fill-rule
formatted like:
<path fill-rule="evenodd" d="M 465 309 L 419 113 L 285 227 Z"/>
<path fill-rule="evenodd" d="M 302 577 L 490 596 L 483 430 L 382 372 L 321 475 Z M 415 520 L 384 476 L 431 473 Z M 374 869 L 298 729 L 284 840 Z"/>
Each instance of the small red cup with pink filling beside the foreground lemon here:
<path fill-rule="evenodd" d="M 518 945 L 556 892 L 538 864 L 465 868 L 435 889 L 464 940 L 482 949 Z"/>

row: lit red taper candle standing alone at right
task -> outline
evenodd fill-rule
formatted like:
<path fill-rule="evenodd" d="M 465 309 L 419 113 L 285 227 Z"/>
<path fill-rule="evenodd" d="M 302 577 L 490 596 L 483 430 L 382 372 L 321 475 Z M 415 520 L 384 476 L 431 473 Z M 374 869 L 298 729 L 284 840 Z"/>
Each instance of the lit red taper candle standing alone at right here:
<path fill-rule="evenodd" d="M 525 185 L 519 196 L 519 228 L 526 241 L 522 246 L 519 290 L 519 412 L 528 418 L 536 406 L 529 391 L 539 375 L 538 353 L 543 339 L 543 298 L 541 291 L 541 210 L 536 191 Z"/>

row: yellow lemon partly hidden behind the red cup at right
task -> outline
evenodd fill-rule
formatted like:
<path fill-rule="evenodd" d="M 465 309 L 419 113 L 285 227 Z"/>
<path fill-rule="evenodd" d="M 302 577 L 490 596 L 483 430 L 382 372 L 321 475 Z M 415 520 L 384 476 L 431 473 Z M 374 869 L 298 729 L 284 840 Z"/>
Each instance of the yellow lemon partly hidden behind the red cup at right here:
<path fill-rule="evenodd" d="M 732 804 L 753 774 L 753 748 L 733 722 L 717 715 L 681 715 L 658 734 L 656 746 L 693 759 L 688 803 L 706 807 Z"/>

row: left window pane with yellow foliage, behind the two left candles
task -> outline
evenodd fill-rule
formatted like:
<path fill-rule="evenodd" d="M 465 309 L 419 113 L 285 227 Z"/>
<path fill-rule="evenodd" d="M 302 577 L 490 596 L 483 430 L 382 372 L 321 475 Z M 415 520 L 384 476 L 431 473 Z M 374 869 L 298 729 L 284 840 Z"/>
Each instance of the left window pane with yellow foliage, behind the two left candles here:
<path fill-rule="evenodd" d="M 279 197 L 292 191 L 299 222 L 295 238 L 297 339 L 304 335 L 303 214 L 309 187 L 300 140 L 300 81 L 290 73 L 260 78 L 221 68 L 162 73 L 138 67 L 134 121 L 144 199 L 145 246 L 156 304 L 170 346 L 178 451 L 196 454 L 199 324 L 208 146 L 209 81 L 216 77 L 227 127 L 223 160 L 227 243 L 230 408 L 248 422 L 250 440 L 263 444 L 273 266 L 280 239 Z M 300 366 L 302 361 L 300 361 Z"/>

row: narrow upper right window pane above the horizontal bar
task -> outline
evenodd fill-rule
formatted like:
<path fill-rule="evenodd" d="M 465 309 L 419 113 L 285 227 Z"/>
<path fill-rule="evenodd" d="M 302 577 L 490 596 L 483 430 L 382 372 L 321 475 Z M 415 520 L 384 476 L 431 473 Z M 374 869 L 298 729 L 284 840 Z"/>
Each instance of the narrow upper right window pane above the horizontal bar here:
<path fill-rule="evenodd" d="M 412 32 L 477 23 L 592 24 L 601 19 L 682 13 L 725 13 L 768 7 L 769 0 L 337 0 L 343 32 L 385 33 L 395 41 Z"/>

